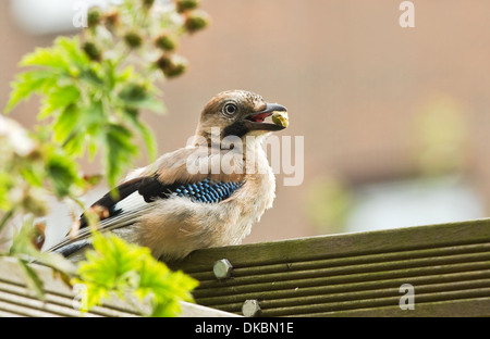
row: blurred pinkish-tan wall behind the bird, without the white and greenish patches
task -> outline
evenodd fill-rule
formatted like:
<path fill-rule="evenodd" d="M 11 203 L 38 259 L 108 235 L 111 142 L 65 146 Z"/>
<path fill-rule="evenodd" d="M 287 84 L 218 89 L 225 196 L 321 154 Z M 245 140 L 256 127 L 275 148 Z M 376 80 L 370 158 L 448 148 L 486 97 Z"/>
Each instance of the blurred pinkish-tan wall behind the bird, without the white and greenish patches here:
<path fill-rule="evenodd" d="M 221 90 L 248 89 L 287 106 L 291 125 L 281 135 L 305 136 L 305 181 L 284 187 L 278 176 L 274 209 L 247 242 L 315 235 L 304 198 L 318 176 L 359 183 L 416 172 L 414 120 L 441 96 L 467 121 L 464 171 L 489 204 L 490 2 L 413 1 L 414 28 L 399 25 L 401 1 L 203 2 L 212 24 L 181 46 L 189 70 L 163 85 L 169 114 L 145 118 L 167 152 L 185 143 L 204 103 Z M 52 37 L 20 32 L 7 1 L 0 2 L 0 28 L 3 105 L 20 58 Z M 36 104 L 23 104 L 13 116 L 32 124 Z"/>

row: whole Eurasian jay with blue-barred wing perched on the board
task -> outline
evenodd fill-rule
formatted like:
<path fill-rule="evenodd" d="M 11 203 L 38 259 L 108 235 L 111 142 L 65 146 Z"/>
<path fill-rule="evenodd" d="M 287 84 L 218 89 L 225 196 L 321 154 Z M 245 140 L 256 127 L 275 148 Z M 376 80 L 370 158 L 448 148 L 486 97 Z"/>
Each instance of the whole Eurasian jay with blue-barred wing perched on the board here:
<path fill-rule="evenodd" d="M 241 243 L 275 197 L 261 143 L 286 124 L 265 122 L 272 114 L 284 117 L 286 109 L 254 92 L 230 90 L 213 97 L 200 114 L 192 145 L 134 171 L 118 194 L 109 192 L 93 204 L 106 211 L 99 230 L 148 247 L 163 261 Z M 76 237 L 65 237 L 51 251 L 81 260 L 90 244 L 86 226 L 82 215 Z"/>

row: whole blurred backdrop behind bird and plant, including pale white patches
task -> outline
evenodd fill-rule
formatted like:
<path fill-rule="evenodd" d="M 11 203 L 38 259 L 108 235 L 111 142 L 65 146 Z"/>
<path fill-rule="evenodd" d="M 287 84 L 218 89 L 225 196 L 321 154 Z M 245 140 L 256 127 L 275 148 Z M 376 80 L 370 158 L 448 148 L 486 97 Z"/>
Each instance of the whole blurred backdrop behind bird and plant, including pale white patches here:
<path fill-rule="evenodd" d="M 76 33 L 73 2 L 0 0 L 2 108 L 22 55 Z M 185 146 L 222 90 L 287 106 L 280 136 L 291 136 L 293 149 L 304 137 L 304 180 L 284 186 L 287 175 L 277 176 L 274 208 L 245 242 L 488 215 L 490 2 L 413 1 L 412 28 L 399 24 L 401 2 L 203 1 L 211 25 L 181 43 L 189 67 L 162 85 L 168 114 L 145 121 L 163 153 Z M 38 104 L 34 98 L 12 116 L 32 127 Z M 136 165 L 146 165 L 144 154 Z M 97 161 L 84 166 L 100 171 Z M 65 229 L 70 217 L 53 208 L 52 223 Z"/>

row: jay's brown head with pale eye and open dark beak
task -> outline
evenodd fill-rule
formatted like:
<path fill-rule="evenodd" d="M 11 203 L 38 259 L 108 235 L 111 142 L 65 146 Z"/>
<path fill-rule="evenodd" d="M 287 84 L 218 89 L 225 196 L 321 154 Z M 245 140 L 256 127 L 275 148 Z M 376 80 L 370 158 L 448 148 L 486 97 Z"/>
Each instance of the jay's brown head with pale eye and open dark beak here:
<path fill-rule="evenodd" d="M 281 130 L 285 123 L 266 122 L 274 112 L 285 114 L 286 108 L 264 101 L 262 97 L 245 90 L 229 90 L 215 96 L 203 110 L 197 136 L 207 139 L 212 128 L 220 131 L 220 139 L 228 136 L 244 138 Z"/>

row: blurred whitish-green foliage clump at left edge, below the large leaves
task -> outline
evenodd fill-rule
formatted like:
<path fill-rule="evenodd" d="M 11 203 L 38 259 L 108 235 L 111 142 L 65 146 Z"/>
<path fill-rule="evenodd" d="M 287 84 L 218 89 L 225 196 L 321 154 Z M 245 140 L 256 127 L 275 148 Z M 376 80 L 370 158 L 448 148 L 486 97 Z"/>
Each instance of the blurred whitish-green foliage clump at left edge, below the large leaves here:
<path fill-rule="evenodd" d="M 76 200 L 96 181 L 97 177 L 79 176 L 76 162 L 50 142 L 46 128 L 28 133 L 0 115 L 0 231 L 15 216 L 46 215 L 49 197 Z M 41 241 L 42 237 L 39 248 Z"/>

